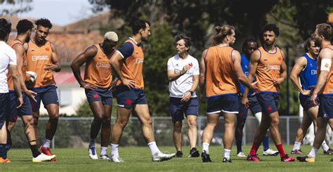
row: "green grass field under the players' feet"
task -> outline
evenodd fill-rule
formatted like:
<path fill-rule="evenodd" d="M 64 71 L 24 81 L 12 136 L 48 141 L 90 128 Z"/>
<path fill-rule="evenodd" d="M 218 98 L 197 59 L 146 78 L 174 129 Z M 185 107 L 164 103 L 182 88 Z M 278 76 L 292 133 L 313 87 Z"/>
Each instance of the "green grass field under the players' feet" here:
<path fill-rule="evenodd" d="M 249 152 L 249 146 L 243 147 Z M 275 148 L 275 147 L 274 147 Z M 285 146 L 289 153 L 291 146 Z M 174 152 L 174 147 L 159 147 L 162 151 Z M 201 147 L 199 147 L 201 150 Z M 56 162 L 32 163 L 30 150 L 13 149 L 8 153 L 11 164 L 0 164 L 0 171 L 333 171 L 332 156 L 318 152 L 315 163 L 281 162 L 280 156 L 263 157 L 259 163 L 246 161 L 235 156 L 233 147 L 231 159 L 233 163 L 222 163 L 223 147 L 211 146 L 209 154 L 213 163 L 202 163 L 201 157 L 188 158 L 189 147 L 183 147 L 183 158 L 153 163 L 148 147 L 119 147 L 119 154 L 124 163 L 113 163 L 105 160 L 91 160 L 86 149 L 55 149 Z M 308 153 L 310 146 L 303 146 L 303 152 Z M 108 150 L 110 152 L 110 149 Z M 99 150 L 98 150 L 99 154 Z M 262 154 L 262 147 L 259 148 Z"/>

